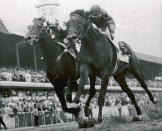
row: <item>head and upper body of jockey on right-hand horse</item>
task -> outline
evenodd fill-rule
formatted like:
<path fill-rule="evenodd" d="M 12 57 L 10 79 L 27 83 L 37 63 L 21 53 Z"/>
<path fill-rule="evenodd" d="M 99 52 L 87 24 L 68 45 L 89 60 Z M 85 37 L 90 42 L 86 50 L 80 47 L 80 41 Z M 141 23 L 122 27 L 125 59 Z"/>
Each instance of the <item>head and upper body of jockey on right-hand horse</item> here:
<path fill-rule="evenodd" d="M 89 13 L 89 18 L 92 23 L 94 23 L 101 32 L 106 33 L 111 40 L 114 40 L 115 22 L 113 18 L 98 5 L 93 5 Z"/>

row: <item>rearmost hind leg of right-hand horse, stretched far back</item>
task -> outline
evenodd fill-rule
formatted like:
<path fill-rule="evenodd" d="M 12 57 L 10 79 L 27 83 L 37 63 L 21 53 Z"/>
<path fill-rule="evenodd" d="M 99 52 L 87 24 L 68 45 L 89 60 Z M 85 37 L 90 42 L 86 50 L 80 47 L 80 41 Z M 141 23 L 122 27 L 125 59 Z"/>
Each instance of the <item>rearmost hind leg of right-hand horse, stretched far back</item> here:
<path fill-rule="evenodd" d="M 152 103 L 155 103 L 152 93 L 148 90 L 145 80 L 140 76 L 138 71 L 132 70 L 132 74 L 140 82 L 141 87 L 147 92 L 147 94 L 148 94 L 150 100 L 152 101 Z"/>

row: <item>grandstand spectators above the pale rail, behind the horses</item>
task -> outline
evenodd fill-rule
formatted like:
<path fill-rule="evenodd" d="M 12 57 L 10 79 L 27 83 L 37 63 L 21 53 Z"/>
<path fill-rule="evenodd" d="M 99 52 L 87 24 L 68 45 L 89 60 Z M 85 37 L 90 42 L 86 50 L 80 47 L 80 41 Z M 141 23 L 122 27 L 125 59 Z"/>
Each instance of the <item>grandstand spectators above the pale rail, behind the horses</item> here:
<path fill-rule="evenodd" d="M 49 82 L 47 79 L 47 75 L 43 70 L 35 71 L 29 68 L 18 69 L 16 67 L 12 68 L 1 67 L 0 81 Z M 129 87 L 140 87 L 140 83 L 134 78 L 126 78 L 126 81 Z M 156 88 L 162 87 L 161 80 L 148 80 L 146 82 L 149 87 L 156 87 Z M 89 84 L 89 82 L 87 84 Z M 100 78 L 97 78 L 96 84 L 97 85 L 101 84 Z M 119 84 L 113 79 L 113 77 L 110 77 L 109 86 L 119 86 Z"/>

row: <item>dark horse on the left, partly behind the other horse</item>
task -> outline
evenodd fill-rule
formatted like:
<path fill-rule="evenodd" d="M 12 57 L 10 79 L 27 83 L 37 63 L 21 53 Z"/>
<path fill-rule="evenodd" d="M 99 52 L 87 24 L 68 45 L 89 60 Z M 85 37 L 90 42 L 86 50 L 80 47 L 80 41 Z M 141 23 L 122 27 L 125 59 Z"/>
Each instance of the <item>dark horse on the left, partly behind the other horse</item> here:
<path fill-rule="evenodd" d="M 42 19 L 35 19 L 33 25 L 29 26 L 25 40 L 31 45 L 38 43 L 46 64 L 46 73 L 49 81 L 54 86 L 54 90 L 59 98 L 62 109 L 65 112 L 73 113 L 77 116 L 79 109 L 68 108 L 64 95 L 65 86 L 67 88 L 67 100 L 72 101 L 72 90 L 78 87 L 75 77 L 75 61 L 70 53 L 63 53 L 60 60 L 58 56 L 64 52 L 65 47 L 58 44 L 51 38 L 47 27 L 43 26 Z"/>

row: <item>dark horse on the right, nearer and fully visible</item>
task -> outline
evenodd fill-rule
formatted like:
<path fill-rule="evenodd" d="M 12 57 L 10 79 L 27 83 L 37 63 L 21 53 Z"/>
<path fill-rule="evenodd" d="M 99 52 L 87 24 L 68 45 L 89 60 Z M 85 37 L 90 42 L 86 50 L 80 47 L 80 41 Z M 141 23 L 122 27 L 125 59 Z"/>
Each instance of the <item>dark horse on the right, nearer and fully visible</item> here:
<path fill-rule="evenodd" d="M 137 105 L 135 97 L 128 87 L 125 77 L 127 72 L 130 72 L 134 77 L 140 82 L 141 87 L 147 92 L 150 100 L 154 103 L 154 97 L 148 90 L 142 73 L 140 70 L 139 60 L 137 59 L 135 53 L 131 52 L 131 57 L 129 59 L 129 64 L 122 61 L 118 64 L 118 69 L 113 73 L 116 61 L 116 49 L 105 35 L 93 27 L 93 25 L 84 16 L 78 14 L 71 14 L 70 20 L 68 21 L 68 32 L 67 38 L 71 41 L 76 41 L 76 39 L 81 40 L 81 48 L 79 53 L 80 59 L 80 83 L 74 98 L 74 102 L 77 103 L 84 90 L 84 85 L 88 76 L 94 75 L 101 78 L 101 88 L 99 91 L 98 105 L 99 114 L 98 122 L 102 121 L 102 107 L 105 101 L 105 94 L 107 92 L 107 86 L 109 77 L 113 76 L 114 79 L 119 83 L 122 90 L 127 93 L 128 97 L 134 104 L 137 115 L 141 116 L 141 109 Z M 86 102 L 86 108 L 92 99 L 92 94 L 95 89 L 91 89 L 88 101 Z M 87 109 L 85 109 L 87 110 Z M 139 117 L 140 118 L 140 117 Z"/>

